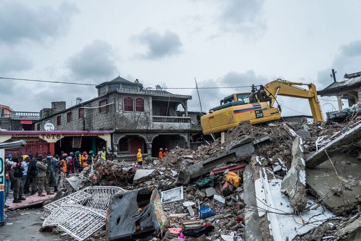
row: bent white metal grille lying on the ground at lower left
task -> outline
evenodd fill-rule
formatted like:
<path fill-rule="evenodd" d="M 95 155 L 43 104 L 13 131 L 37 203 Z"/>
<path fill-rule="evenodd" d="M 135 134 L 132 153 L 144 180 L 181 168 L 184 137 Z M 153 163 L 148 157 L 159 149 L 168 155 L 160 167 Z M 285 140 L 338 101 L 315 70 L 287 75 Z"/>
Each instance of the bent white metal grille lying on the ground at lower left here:
<path fill-rule="evenodd" d="M 42 227 L 58 226 L 79 241 L 89 238 L 105 225 L 109 199 L 124 189 L 94 186 L 79 190 L 44 206 Z"/>

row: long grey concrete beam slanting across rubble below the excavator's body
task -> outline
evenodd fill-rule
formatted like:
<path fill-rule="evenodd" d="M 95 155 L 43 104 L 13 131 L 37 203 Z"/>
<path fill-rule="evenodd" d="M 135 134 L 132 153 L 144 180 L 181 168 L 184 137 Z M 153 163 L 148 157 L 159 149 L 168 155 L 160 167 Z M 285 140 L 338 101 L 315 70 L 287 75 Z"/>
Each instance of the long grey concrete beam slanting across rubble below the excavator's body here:
<path fill-rule="evenodd" d="M 193 165 L 183 168 L 180 171 L 177 182 L 180 184 L 187 184 L 189 182 L 189 179 L 210 172 L 218 165 L 221 165 L 227 161 L 249 155 L 253 152 L 255 152 L 254 146 L 252 145 L 252 143 L 247 143 L 232 150 L 223 152 L 216 157 L 208 158 L 205 161 L 199 161 Z"/>

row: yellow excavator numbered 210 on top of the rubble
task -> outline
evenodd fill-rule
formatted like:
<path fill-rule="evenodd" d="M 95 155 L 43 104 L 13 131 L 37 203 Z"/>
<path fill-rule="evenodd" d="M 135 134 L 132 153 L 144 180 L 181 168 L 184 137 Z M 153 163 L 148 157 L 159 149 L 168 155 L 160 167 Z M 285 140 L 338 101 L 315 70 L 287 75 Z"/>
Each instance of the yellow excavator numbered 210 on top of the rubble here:
<path fill-rule="evenodd" d="M 298 85 L 298 86 L 297 86 Z M 307 85 L 308 90 L 299 86 Z M 274 80 L 260 85 L 252 92 L 234 93 L 222 99 L 219 106 L 209 110 L 200 119 L 203 134 L 227 131 L 238 126 L 242 121 L 260 124 L 281 118 L 281 107 L 273 107 L 277 95 L 308 99 L 314 123 L 323 121 L 316 86 L 313 83 L 303 84 L 286 80 Z"/>

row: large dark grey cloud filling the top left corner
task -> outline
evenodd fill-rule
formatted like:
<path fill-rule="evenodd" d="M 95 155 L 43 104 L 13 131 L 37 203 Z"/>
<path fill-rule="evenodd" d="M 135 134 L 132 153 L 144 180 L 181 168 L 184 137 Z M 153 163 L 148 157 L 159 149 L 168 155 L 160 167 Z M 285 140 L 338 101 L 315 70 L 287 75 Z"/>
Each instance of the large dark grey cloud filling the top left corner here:
<path fill-rule="evenodd" d="M 67 1 L 57 9 L 51 6 L 32 8 L 14 1 L 0 3 L 0 41 L 12 44 L 21 40 L 43 42 L 69 28 L 78 8 Z"/>

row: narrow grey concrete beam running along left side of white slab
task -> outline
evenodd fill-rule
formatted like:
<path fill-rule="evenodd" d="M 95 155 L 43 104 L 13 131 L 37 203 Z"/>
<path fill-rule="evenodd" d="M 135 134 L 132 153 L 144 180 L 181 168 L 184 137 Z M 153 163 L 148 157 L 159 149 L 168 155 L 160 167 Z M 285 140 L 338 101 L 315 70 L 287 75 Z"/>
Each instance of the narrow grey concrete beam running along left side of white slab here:
<path fill-rule="evenodd" d="M 245 240 L 250 241 L 262 241 L 262 233 L 260 227 L 260 218 L 258 213 L 253 211 L 257 206 L 255 183 L 254 183 L 254 171 L 251 165 L 247 165 L 243 173 L 243 188 L 244 188 L 244 201 L 245 207 Z"/>

